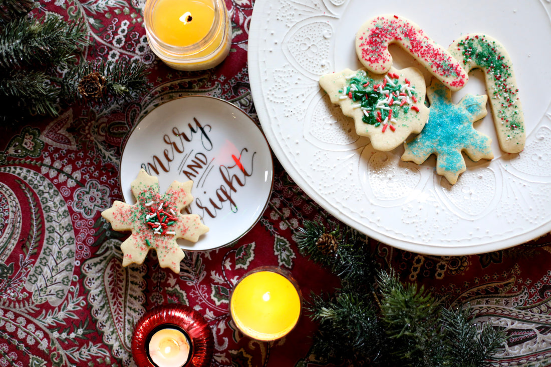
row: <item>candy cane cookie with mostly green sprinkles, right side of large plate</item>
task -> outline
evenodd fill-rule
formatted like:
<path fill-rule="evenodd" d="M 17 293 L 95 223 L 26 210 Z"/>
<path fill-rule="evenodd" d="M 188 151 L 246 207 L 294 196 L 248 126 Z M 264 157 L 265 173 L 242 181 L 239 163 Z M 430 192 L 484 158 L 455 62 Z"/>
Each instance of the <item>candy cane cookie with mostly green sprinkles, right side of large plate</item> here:
<path fill-rule="evenodd" d="M 448 48 L 465 71 L 482 69 L 491 114 L 501 150 L 518 153 L 524 148 L 524 114 L 511 58 L 505 47 L 484 34 L 466 34 Z"/>

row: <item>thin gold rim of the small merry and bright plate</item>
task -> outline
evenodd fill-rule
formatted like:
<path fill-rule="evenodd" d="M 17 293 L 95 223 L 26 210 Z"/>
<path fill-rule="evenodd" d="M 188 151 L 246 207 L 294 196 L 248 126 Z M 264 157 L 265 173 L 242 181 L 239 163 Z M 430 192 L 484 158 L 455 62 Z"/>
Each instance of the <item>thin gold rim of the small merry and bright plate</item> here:
<path fill-rule="evenodd" d="M 193 95 L 185 95 L 185 96 L 179 96 L 179 97 L 176 97 L 176 98 L 172 98 L 170 100 L 167 100 L 167 101 L 163 101 L 161 102 L 159 105 L 153 107 L 153 109 L 151 109 L 150 111 L 147 112 L 147 114 L 145 114 L 144 116 L 142 116 L 139 121 L 136 122 L 136 125 L 134 125 L 132 127 L 132 129 L 127 133 L 126 135 L 126 138 L 125 138 L 125 141 L 123 142 L 122 146 L 121 146 L 121 159 L 120 159 L 120 163 L 119 163 L 119 169 L 118 169 L 118 189 L 121 191 L 121 198 L 122 198 L 122 201 L 127 203 L 126 200 L 125 200 L 125 196 L 124 196 L 124 192 L 125 192 L 125 189 L 123 189 L 122 187 L 122 158 L 123 158 L 123 155 L 125 153 L 125 150 L 126 150 L 126 146 L 128 144 L 128 141 L 130 140 L 130 138 L 132 137 L 132 134 L 134 133 L 134 131 L 136 131 L 137 127 L 139 126 L 139 124 L 144 120 L 145 117 L 149 116 L 149 114 L 151 114 L 153 111 L 155 111 L 156 109 L 158 109 L 159 107 L 161 106 L 164 106 L 170 102 L 175 102 L 175 101 L 178 101 L 178 100 L 181 100 L 181 99 L 185 99 L 185 98 L 189 98 L 189 99 L 193 99 L 193 98 L 206 98 L 206 99 L 210 99 L 212 101 L 214 101 L 215 103 L 219 103 L 219 102 L 223 102 L 223 104 L 226 104 L 226 105 L 229 105 L 230 107 L 233 107 L 234 109 L 236 109 L 237 111 L 239 111 L 244 117 L 246 117 L 246 119 L 248 119 L 252 125 L 254 125 L 257 129 L 258 129 L 258 132 L 260 132 L 261 136 L 264 138 L 264 144 L 266 144 L 266 148 L 268 149 L 268 157 L 269 157 L 269 167 L 271 169 L 271 180 L 270 180 L 270 188 L 268 190 L 268 195 L 266 197 L 266 202 L 264 202 L 264 205 L 262 207 L 262 209 L 260 211 L 258 211 L 258 216 L 257 218 L 253 221 L 253 223 L 251 223 L 251 225 L 242 233 L 240 234 L 239 236 L 237 236 L 236 238 L 232 239 L 231 241 L 226 241 L 225 244 L 222 244 L 222 245 L 218 245 L 218 246 L 215 246 L 215 247 L 209 247 L 208 249 L 189 249 L 187 247 L 182 247 L 182 245 L 180 245 L 180 248 L 183 250 L 183 251 L 190 251 L 190 252 L 202 252 L 202 251 L 213 251 L 213 250 L 217 250 L 217 249 L 221 249 L 222 247 L 225 247 L 225 246 L 228 246 L 228 245 L 231 245 L 233 244 L 235 241 L 238 241 L 239 239 L 241 239 L 243 236 L 245 236 L 247 233 L 249 233 L 249 231 L 260 221 L 260 219 L 262 218 L 262 215 L 264 214 L 264 212 L 266 211 L 266 208 L 268 207 L 268 204 L 270 202 L 270 198 L 272 197 L 272 192 L 273 192 L 273 187 L 274 187 L 274 159 L 273 159 L 273 156 L 272 154 L 274 154 L 272 148 L 271 148 L 271 145 L 268 143 L 268 139 L 266 138 L 266 134 L 264 134 L 264 131 L 262 130 L 262 128 L 260 126 L 257 125 L 256 121 L 253 120 L 253 118 L 247 114 L 247 112 L 245 112 L 243 109 L 241 109 L 240 107 L 234 105 L 233 103 L 231 103 L 230 101 L 226 101 L 222 98 L 218 98 L 218 97 L 214 97 L 214 96 L 210 96 L 210 95 L 196 95 L 196 94 L 193 94 Z M 194 197 L 195 198 L 195 197 Z M 130 203 L 128 203 L 130 204 Z M 209 230 L 210 230 L 210 226 L 209 226 Z M 199 239 L 199 241 L 201 241 L 201 239 Z"/>

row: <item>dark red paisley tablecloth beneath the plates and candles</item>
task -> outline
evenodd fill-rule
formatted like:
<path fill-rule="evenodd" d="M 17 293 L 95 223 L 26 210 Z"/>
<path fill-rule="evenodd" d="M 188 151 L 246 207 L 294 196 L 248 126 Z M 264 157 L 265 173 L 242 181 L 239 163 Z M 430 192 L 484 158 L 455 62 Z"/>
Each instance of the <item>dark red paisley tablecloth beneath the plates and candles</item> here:
<path fill-rule="evenodd" d="M 287 337 L 252 341 L 228 313 L 236 279 L 252 268 L 289 269 L 302 294 L 331 292 L 338 279 L 300 255 L 294 234 L 304 220 L 336 222 L 275 161 L 272 197 L 260 222 L 230 246 L 187 253 L 180 274 L 121 266 L 121 240 L 100 212 L 122 198 L 121 145 L 140 112 L 185 95 L 230 101 L 256 119 L 247 73 L 253 3 L 226 0 L 233 45 L 220 66 L 202 72 L 166 67 L 149 49 L 139 0 L 42 0 L 36 14 L 85 18 L 89 60 L 139 58 L 150 68 L 149 93 L 125 105 L 74 105 L 58 118 L 31 118 L 0 132 L 0 367 L 132 366 L 133 326 L 155 305 L 182 303 L 207 319 L 212 365 L 314 366 L 316 325 L 307 315 Z M 3 108 L 6 108 L 4 106 Z M 547 157 L 549 159 L 549 157 Z M 424 284 L 509 335 L 503 366 L 551 365 L 551 236 L 473 256 L 424 256 L 377 241 L 366 244 L 382 267 Z"/>

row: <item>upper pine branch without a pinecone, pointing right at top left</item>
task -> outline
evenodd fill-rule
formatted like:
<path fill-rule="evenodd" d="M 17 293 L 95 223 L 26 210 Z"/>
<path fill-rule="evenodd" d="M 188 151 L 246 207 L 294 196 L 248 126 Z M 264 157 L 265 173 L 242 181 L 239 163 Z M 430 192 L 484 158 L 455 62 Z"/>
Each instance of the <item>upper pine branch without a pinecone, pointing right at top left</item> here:
<path fill-rule="evenodd" d="M 0 30 L 0 68 L 65 68 L 88 44 L 83 24 L 67 23 L 59 15 L 16 19 Z"/>

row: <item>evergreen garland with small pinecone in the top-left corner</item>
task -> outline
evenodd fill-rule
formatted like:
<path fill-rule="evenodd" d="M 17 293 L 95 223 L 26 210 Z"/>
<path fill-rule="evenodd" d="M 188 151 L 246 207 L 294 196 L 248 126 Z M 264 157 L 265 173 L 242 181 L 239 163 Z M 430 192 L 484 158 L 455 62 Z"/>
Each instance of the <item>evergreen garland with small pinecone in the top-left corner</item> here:
<path fill-rule="evenodd" d="M 78 52 L 90 44 L 84 23 L 51 13 L 35 18 L 36 6 L 34 0 L 0 2 L 0 99 L 9 106 L 0 120 L 57 116 L 64 104 L 133 99 L 147 89 L 148 73 L 138 60 L 78 63 Z"/>

